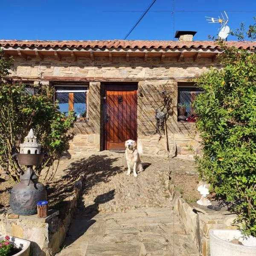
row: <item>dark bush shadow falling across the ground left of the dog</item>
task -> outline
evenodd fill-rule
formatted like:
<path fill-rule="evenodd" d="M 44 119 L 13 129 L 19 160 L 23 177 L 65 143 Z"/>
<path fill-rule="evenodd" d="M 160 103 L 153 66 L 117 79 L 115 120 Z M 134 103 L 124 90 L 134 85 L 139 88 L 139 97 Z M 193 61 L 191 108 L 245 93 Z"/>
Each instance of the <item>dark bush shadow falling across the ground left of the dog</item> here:
<path fill-rule="evenodd" d="M 63 200 L 73 192 L 73 184 L 80 175 L 85 175 L 84 191 L 86 193 L 96 183 L 110 180 L 110 177 L 124 171 L 123 166 L 114 166 L 113 163 L 118 157 L 110 157 L 107 154 L 92 155 L 88 158 L 82 158 L 70 163 L 64 170 L 66 175 L 61 179 L 55 178 L 49 181 L 48 201 L 50 207 L 54 209 L 63 208 Z"/>

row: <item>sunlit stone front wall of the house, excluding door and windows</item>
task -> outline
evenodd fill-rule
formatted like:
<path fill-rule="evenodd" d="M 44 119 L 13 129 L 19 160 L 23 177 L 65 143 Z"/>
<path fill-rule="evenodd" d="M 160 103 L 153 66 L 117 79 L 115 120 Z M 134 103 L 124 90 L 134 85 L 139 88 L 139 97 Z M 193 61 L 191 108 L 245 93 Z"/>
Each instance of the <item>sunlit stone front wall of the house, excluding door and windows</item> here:
<path fill-rule="evenodd" d="M 168 146 L 171 153 L 192 154 L 189 151 L 193 146 L 199 151 L 197 139 L 194 137 L 194 124 L 177 122 L 177 81 L 194 78 L 207 71 L 207 67 L 219 68 L 218 63 L 212 63 L 211 58 L 143 58 L 114 57 L 109 61 L 107 57 L 90 58 L 63 57 L 61 61 L 45 57 L 23 58 L 15 56 L 11 76 L 35 79 L 42 74 L 44 77 L 53 76 L 54 79 L 65 78 L 66 81 L 74 78 L 87 79 L 89 84 L 89 120 L 75 123 L 74 131 L 77 136 L 70 143 L 70 154 L 84 151 L 99 151 L 102 149 L 102 113 L 101 113 L 101 82 L 104 81 L 137 81 L 138 82 L 138 148 L 140 153 L 164 154 L 166 152 L 166 137 L 159 139 L 155 132 L 155 109 L 163 104 L 160 96 L 162 90 L 172 93 L 172 114 L 167 120 Z M 98 82 L 96 82 L 98 81 Z M 101 82 L 99 82 L 101 81 Z M 58 81 L 58 84 L 60 81 Z M 88 82 L 87 82 L 88 83 Z M 162 133 L 163 134 L 163 133 Z M 174 152 L 175 151 L 175 152 Z"/>

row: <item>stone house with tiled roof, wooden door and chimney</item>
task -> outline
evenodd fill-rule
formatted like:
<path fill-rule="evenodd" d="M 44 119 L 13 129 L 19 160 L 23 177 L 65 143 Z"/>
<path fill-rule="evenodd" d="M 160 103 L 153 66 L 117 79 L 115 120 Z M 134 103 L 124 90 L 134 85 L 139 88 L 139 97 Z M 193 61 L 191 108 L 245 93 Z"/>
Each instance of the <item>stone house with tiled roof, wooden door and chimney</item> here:
<path fill-rule="evenodd" d="M 198 89 L 190 79 L 210 66 L 221 68 L 221 49 L 213 41 L 192 41 L 193 35 L 177 32 L 178 41 L 0 40 L 0 47 L 15 59 L 10 78 L 55 87 L 60 110 L 76 112 L 70 154 L 122 150 L 127 139 L 137 140 L 140 153 L 192 154 L 195 123 L 184 116 L 194 114 L 189 103 Z M 227 44 L 252 48 L 250 42 Z M 179 120 L 178 104 L 186 104 Z M 168 113 L 165 134 L 156 133 L 156 110 L 158 117 Z"/>

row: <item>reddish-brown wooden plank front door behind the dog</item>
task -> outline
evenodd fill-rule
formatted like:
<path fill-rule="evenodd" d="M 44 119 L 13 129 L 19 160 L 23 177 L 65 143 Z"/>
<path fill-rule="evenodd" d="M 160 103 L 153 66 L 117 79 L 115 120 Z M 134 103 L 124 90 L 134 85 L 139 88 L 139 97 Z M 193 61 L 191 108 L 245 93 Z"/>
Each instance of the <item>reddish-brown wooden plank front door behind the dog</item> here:
<path fill-rule="evenodd" d="M 107 87 L 105 106 L 107 150 L 124 150 L 126 140 L 137 141 L 137 90 Z"/>

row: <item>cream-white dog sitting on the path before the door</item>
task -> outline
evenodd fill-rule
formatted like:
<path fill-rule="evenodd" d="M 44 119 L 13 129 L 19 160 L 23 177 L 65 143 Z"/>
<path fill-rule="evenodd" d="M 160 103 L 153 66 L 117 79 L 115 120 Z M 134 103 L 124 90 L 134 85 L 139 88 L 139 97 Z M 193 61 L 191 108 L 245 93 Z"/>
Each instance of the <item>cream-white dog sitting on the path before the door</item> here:
<path fill-rule="evenodd" d="M 128 165 L 128 172 L 127 175 L 130 175 L 131 168 L 133 168 L 134 177 L 137 177 L 137 171 L 142 172 L 143 166 L 140 161 L 139 152 L 136 148 L 136 141 L 134 140 L 127 140 L 125 141 L 125 157 L 127 160 Z"/>

